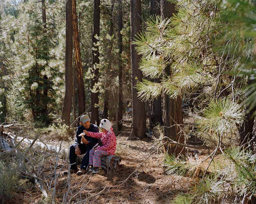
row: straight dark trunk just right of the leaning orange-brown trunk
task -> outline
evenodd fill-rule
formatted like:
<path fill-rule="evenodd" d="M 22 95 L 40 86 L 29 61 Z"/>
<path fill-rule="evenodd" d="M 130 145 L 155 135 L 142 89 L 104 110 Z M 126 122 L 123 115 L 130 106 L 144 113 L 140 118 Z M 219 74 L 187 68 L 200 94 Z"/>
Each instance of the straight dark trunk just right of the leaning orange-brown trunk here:
<path fill-rule="evenodd" d="M 100 0 L 93 1 L 93 28 L 92 28 L 92 74 L 94 77 L 92 79 L 91 88 L 93 89 L 94 84 L 98 82 L 99 76 L 99 68 L 97 68 L 97 64 L 100 63 L 100 53 L 99 47 L 95 44 L 98 40 L 94 37 L 95 35 L 100 36 Z M 92 123 L 97 123 L 99 125 L 99 92 L 91 94 L 92 98 Z M 96 106 L 95 106 L 96 104 Z"/>

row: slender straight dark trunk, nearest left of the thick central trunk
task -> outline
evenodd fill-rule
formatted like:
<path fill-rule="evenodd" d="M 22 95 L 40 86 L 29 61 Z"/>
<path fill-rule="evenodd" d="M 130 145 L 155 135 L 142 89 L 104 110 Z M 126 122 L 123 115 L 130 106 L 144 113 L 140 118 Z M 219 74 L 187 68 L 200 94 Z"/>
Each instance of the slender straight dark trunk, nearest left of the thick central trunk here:
<path fill-rule="evenodd" d="M 122 0 L 118 1 L 118 129 L 122 130 L 123 127 L 123 70 L 122 70 L 122 51 L 123 51 L 123 36 L 121 30 L 123 29 L 123 8 Z"/>

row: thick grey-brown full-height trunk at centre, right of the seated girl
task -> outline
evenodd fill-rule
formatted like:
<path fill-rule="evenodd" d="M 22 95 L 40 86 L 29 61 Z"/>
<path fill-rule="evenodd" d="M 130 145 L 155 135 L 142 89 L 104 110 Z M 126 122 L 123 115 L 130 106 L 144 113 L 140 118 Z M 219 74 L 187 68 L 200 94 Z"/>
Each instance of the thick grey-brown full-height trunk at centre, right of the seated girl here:
<path fill-rule="evenodd" d="M 142 81 L 142 72 L 139 70 L 140 56 L 132 44 L 135 35 L 141 30 L 141 1 L 131 0 L 131 69 L 132 69 L 132 136 L 143 138 L 146 133 L 145 104 L 140 101 L 135 88 L 137 81 Z"/>

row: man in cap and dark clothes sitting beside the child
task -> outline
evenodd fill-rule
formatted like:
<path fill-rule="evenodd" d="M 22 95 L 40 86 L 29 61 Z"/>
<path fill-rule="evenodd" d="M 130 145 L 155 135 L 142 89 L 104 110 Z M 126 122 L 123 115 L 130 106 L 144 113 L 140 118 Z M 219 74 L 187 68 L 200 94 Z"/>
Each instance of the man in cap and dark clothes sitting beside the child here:
<path fill-rule="evenodd" d="M 88 137 L 84 135 L 83 137 L 79 136 L 81 133 L 86 131 L 90 132 L 99 132 L 99 128 L 97 125 L 94 125 L 90 123 L 90 118 L 88 115 L 82 115 L 80 117 L 81 125 L 76 130 L 76 139 L 75 144 L 71 145 L 69 147 L 69 162 L 71 164 L 70 166 L 70 172 L 76 173 L 77 175 L 82 175 L 86 172 L 88 168 L 89 163 L 89 154 L 90 150 L 98 146 L 98 139 L 93 137 Z M 80 154 L 85 154 L 84 158 L 82 160 L 82 164 L 80 167 L 80 170 L 77 171 L 77 164 L 76 164 L 76 158 Z M 64 174 L 67 174 L 68 172 L 64 172 Z"/>

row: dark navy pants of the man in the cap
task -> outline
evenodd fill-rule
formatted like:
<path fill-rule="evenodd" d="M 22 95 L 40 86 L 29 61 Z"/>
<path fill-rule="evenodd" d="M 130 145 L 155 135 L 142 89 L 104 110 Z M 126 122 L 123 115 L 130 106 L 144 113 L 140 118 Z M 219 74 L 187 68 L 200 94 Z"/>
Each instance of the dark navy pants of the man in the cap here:
<path fill-rule="evenodd" d="M 87 169 L 88 164 L 89 164 L 90 150 L 93 148 L 93 146 L 94 146 L 93 144 L 90 144 L 90 145 L 79 145 L 78 146 L 80 148 L 81 155 L 85 154 L 84 158 L 82 160 L 81 169 Z M 71 145 L 69 147 L 69 162 L 70 162 L 70 164 L 72 164 L 70 166 L 70 169 L 77 169 L 77 165 L 76 165 L 77 155 L 75 153 L 75 150 L 76 149 L 75 149 L 74 145 Z"/>

